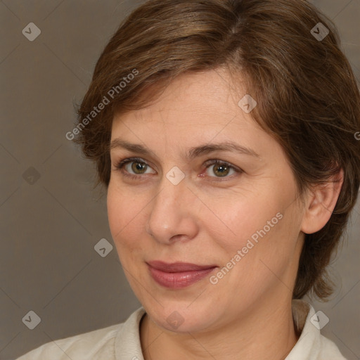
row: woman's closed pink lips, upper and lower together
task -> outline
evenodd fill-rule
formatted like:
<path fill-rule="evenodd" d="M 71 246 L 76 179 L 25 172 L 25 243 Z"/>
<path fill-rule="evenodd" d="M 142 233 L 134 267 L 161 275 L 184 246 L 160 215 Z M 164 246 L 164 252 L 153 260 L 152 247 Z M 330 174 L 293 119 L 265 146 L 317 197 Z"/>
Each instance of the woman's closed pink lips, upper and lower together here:
<path fill-rule="evenodd" d="M 151 276 L 158 284 L 173 289 L 186 288 L 205 278 L 217 267 L 216 265 L 197 265 L 185 262 L 167 264 L 154 261 L 147 264 Z"/>

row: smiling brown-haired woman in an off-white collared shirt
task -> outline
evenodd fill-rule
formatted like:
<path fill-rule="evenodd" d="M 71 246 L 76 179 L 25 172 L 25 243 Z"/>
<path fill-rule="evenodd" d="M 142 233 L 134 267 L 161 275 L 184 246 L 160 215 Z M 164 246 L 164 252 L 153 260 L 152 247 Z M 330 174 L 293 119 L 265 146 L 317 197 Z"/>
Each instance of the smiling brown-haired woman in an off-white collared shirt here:
<path fill-rule="evenodd" d="M 345 359 L 302 300 L 360 184 L 360 95 L 302 0 L 150 0 L 110 39 L 76 131 L 143 305 L 20 359 Z"/>

